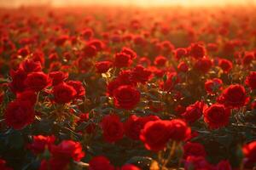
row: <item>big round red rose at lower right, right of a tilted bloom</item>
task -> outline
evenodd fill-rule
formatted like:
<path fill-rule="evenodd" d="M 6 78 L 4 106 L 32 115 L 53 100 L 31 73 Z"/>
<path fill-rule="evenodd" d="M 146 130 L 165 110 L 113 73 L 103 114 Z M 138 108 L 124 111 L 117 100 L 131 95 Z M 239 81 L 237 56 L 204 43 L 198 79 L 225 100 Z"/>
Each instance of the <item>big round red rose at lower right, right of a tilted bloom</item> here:
<path fill-rule="evenodd" d="M 230 121 L 230 109 L 224 105 L 213 104 L 203 111 L 204 121 L 212 129 L 226 126 Z"/>

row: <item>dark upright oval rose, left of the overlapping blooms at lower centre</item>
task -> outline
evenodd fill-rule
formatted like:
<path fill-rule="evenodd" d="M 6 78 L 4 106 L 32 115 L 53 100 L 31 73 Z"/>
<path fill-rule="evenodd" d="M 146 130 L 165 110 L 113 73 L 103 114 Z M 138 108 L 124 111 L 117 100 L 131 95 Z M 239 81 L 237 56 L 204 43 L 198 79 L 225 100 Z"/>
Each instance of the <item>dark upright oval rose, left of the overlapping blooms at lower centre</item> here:
<path fill-rule="evenodd" d="M 105 141 L 113 143 L 122 139 L 124 136 L 124 125 L 120 122 L 119 116 L 104 116 L 101 122 L 103 137 Z"/>

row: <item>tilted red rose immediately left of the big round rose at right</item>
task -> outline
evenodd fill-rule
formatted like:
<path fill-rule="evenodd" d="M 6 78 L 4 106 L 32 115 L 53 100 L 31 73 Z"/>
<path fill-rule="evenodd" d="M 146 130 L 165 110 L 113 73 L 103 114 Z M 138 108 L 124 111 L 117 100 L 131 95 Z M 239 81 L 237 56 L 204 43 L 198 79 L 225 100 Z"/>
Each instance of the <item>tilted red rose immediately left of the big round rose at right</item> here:
<path fill-rule="evenodd" d="M 189 105 L 182 116 L 186 122 L 193 123 L 202 116 L 202 111 L 205 109 L 205 104 L 200 101 L 196 101 L 195 104 Z"/>

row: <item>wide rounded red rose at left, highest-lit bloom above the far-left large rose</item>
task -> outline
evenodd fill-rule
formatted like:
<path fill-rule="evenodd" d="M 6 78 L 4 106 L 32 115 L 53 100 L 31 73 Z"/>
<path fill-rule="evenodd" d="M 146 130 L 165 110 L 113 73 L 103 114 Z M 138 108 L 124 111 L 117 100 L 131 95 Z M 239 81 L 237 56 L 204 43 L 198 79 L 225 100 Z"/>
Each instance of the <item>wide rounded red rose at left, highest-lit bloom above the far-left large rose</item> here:
<path fill-rule="evenodd" d="M 48 87 L 51 81 L 48 75 L 44 74 L 44 72 L 32 72 L 27 75 L 24 83 L 26 88 L 39 92 Z"/>

